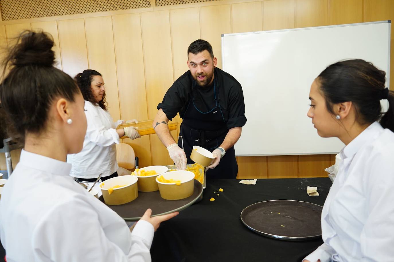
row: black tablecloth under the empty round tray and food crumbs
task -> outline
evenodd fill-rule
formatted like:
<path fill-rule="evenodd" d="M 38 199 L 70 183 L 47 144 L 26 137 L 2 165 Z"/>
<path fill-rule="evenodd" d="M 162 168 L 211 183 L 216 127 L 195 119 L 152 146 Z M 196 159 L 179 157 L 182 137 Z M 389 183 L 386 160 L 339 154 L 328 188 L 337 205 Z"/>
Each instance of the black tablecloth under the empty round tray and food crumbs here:
<path fill-rule="evenodd" d="M 201 202 L 160 225 L 152 261 L 301 261 L 323 243 L 321 238 L 292 242 L 258 235 L 242 224 L 240 214 L 248 205 L 266 200 L 323 205 L 332 185 L 329 178 L 260 179 L 256 185 L 239 181 L 208 180 Z M 308 196 L 307 186 L 318 187 L 320 196 Z M 214 193 L 219 188 L 224 191 Z"/>

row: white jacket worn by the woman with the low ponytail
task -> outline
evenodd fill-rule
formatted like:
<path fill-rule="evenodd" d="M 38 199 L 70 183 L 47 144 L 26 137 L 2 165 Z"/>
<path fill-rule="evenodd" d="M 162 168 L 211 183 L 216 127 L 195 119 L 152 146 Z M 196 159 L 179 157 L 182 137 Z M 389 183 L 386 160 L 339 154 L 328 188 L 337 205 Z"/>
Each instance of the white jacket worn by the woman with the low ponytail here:
<path fill-rule="evenodd" d="M 324 244 L 305 259 L 394 261 L 394 133 L 372 123 L 340 156 L 322 211 Z"/>

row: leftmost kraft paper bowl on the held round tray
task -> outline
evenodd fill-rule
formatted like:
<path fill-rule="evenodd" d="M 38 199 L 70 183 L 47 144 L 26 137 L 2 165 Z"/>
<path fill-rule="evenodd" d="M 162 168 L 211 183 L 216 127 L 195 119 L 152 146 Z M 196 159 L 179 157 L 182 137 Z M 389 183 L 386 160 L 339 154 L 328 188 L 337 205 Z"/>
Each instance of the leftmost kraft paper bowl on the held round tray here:
<path fill-rule="evenodd" d="M 100 189 L 104 202 L 107 205 L 122 205 L 132 202 L 138 197 L 137 180 L 137 176 L 117 176 L 101 182 Z M 113 189 L 113 192 L 110 194 L 108 189 L 116 185 L 124 186 Z"/>

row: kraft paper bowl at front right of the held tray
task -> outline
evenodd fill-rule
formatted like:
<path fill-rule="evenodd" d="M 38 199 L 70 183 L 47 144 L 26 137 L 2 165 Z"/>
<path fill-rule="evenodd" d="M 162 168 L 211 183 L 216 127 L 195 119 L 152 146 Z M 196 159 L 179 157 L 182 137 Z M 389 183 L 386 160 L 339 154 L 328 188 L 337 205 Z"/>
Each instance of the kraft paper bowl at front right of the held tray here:
<path fill-rule="evenodd" d="M 180 185 L 175 183 L 156 182 L 159 186 L 160 196 L 166 200 L 179 200 L 191 196 L 194 192 L 194 174 L 186 170 L 171 171 L 161 174 L 165 179 L 180 180 Z"/>

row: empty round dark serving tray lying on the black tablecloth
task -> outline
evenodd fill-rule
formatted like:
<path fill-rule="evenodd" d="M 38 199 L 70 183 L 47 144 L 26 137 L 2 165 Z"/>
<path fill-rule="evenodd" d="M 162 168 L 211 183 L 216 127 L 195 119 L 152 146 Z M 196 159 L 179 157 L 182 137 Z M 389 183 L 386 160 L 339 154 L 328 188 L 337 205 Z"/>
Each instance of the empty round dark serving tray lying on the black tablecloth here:
<path fill-rule="evenodd" d="M 242 223 L 253 232 L 282 240 L 309 240 L 322 236 L 321 205 L 296 200 L 254 203 L 241 212 Z"/>

